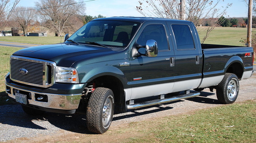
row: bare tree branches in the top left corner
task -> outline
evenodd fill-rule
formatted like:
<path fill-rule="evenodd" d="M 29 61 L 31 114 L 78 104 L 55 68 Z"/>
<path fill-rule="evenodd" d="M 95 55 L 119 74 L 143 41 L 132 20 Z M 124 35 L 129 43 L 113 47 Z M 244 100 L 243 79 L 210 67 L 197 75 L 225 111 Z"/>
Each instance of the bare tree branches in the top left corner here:
<path fill-rule="evenodd" d="M 20 0 L 1 0 L 0 1 L 0 31 L 4 30 L 8 19 L 11 16 L 13 9 Z"/>

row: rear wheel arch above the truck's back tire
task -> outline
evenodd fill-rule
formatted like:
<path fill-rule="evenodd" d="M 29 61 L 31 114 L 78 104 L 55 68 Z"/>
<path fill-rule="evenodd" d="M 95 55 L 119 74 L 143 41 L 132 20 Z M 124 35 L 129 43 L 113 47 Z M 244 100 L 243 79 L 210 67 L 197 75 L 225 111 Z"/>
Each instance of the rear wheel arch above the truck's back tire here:
<path fill-rule="evenodd" d="M 242 78 L 242 75 L 244 73 L 244 64 L 243 60 L 239 56 L 233 56 L 231 57 L 225 67 L 224 67 L 225 73 L 234 73 L 238 77 L 238 79 Z"/>

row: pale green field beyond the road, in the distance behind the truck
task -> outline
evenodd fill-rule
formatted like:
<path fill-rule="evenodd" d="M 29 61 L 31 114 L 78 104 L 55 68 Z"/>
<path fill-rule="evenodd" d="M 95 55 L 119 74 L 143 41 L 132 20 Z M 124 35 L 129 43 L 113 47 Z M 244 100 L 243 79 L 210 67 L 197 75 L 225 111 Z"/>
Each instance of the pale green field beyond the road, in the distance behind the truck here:
<path fill-rule="evenodd" d="M 199 37 L 203 39 L 205 35 L 205 29 L 207 27 L 198 27 Z M 256 33 L 256 29 L 252 29 L 252 33 Z M 205 40 L 205 44 L 222 44 L 222 45 L 235 45 L 244 46 L 240 42 L 241 39 L 245 39 L 247 35 L 247 28 L 236 27 L 215 27 L 210 33 L 208 39 Z M 0 41 L 7 42 L 19 42 L 28 44 L 55 44 L 63 42 L 64 37 L 0 37 Z"/>

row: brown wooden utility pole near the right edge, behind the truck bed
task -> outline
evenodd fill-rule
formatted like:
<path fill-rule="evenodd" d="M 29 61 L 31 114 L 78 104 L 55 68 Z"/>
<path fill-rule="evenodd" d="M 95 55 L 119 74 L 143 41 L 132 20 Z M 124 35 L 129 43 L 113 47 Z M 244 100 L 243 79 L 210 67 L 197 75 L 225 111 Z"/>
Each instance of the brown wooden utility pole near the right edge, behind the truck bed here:
<path fill-rule="evenodd" d="M 249 0 L 248 5 L 248 22 L 247 22 L 247 40 L 246 46 L 251 47 L 251 26 L 252 26 L 252 0 Z"/>

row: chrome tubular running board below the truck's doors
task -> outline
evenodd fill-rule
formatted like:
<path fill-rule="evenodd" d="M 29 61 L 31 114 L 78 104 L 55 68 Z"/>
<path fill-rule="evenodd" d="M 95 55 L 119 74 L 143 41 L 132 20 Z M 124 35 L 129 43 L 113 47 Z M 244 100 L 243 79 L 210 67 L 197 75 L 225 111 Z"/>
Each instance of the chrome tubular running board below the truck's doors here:
<path fill-rule="evenodd" d="M 199 96 L 199 95 L 200 95 L 200 92 L 188 93 L 188 94 L 173 96 L 171 98 L 161 98 L 161 99 L 156 99 L 156 100 L 147 101 L 147 102 L 143 102 L 143 103 L 129 104 L 129 105 L 126 105 L 126 109 L 137 109 L 137 108 L 141 108 L 141 107 L 152 106 L 152 105 L 177 101 L 177 100 L 181 100 L 181 99 L 191 98 L 191 97 L 195 97 L 195 96 Z M 162 95 L 161 95 L 161 97 L 162 97 Z M 133 100 L 133 102 L 134 102 L 134 100 Z"/>

